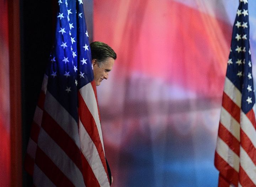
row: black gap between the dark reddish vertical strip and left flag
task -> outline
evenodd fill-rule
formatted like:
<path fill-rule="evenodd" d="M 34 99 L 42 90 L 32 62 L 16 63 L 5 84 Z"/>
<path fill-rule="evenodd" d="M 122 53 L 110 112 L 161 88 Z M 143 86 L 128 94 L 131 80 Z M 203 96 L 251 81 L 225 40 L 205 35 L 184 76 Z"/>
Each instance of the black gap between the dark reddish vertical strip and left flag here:
<path fill-rule="evenodd" d="M 57 1 L 51 0 L 21 0 L 20 3 L 23 162 L 46 63 L 53 44 L 56 7 Z M 23 169 L 23 186 L 31 185 L 32 178 Z"/>

